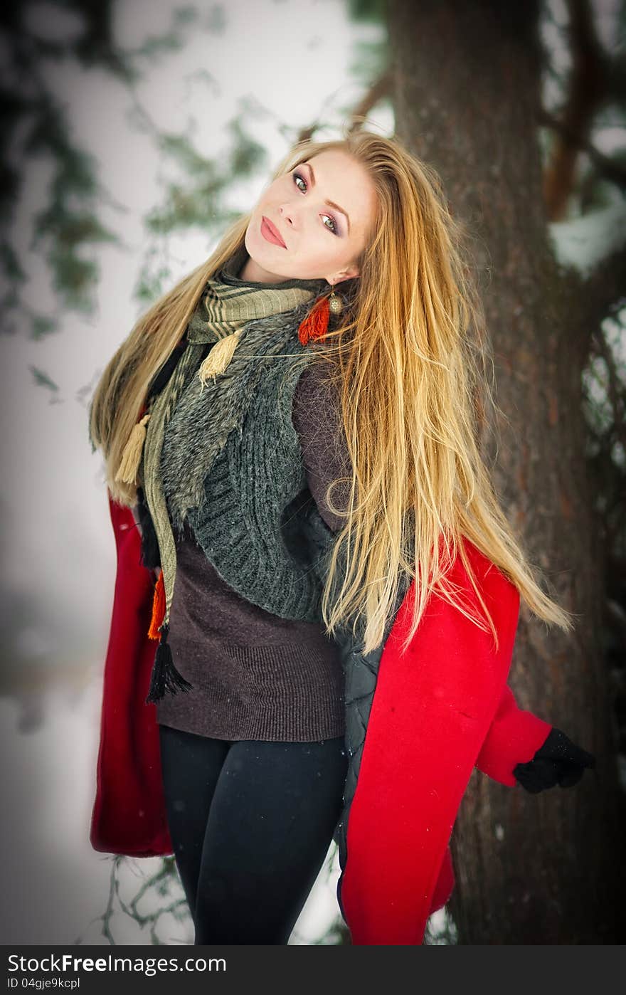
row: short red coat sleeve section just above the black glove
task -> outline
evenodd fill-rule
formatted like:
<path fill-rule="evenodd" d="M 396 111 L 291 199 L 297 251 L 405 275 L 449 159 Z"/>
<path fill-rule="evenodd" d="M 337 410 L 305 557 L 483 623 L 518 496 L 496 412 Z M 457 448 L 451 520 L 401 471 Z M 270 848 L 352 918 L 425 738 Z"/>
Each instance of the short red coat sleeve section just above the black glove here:
<path fill-rule="evenodd" d="M 550 722 L 520 708 L 511 688 L 505 685 L 476 766 L 495 781 L 515 787 L 518 781 L 514 767 L 532 759 L 551 728 Z"/>

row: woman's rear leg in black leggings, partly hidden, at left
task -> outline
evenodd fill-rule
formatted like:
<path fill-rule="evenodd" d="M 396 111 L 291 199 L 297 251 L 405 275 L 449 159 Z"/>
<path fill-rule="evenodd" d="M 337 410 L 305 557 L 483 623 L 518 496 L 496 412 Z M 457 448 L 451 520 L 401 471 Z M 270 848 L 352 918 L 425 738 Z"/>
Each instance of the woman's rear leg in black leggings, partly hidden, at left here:
<path fill-rule="evenodd" d="M 202 846 L 215 785 L 229 744 L 159 725 L 167 825 L 192 918 Z"/>

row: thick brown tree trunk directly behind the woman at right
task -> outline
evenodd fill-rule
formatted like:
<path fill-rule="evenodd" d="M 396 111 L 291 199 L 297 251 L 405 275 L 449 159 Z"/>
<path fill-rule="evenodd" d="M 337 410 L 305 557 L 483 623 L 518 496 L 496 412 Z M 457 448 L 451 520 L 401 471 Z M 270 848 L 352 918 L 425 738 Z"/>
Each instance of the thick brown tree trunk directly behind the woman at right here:
<path fill-rule="evenodd" d="M 453 833 L 450 911 L 459 943 L 623 942 L 624 806 L 581 404 L 592 328 L 580 281 L 548 241 L 538 5 L 389 0 L 388 19 L 396 133 L 439 172 L 489 270 L 483 298 L 506 420 L 484 456 L 530 562 L 577 615 L 567 636 L 522 604 L 510 685 L 597 760 L 575 787 L 539 795 L 474 772 Z"/>

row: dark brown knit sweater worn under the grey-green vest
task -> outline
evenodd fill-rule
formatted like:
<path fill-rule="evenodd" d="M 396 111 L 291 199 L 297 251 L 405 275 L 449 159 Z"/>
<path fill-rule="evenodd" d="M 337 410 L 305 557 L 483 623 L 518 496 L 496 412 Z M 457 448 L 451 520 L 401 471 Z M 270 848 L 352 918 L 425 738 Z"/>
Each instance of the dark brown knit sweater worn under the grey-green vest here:
<path fill-rule="evenodd" d="M 301 375 L 293 422 L 309 491 L 333 530 L 343 519 L 323 500 L 331 480 L 349 476 L 338 399 L 325 371 Z M 315 418 L 312 418 L 315 412 Z M 346 491 L 333 501 L 345 507 Z M 157 721 L 219 739 L 312 741 L 344 732 L 343 675 L 335 644 L 316 623 L 272 615 L 228 587 L 196 543 L 187 523 L 175 536 L 177 572 L 168 642 L 179 672 L 192 685 L 156 705 Z"/>

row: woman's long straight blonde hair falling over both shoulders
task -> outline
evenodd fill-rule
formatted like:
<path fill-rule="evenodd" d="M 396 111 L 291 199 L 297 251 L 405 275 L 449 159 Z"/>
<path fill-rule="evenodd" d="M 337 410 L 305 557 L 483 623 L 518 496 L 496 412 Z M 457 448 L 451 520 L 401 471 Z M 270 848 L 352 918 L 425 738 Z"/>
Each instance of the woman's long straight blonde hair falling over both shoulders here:
<path fill-rule="evenodd" d="M 336 535 L 321 600 L 326 633 L 352 622 L 365 653 L 378 647 L 403 587 L 416 580 L 404 647 L 436 590 L 482 629 L 498 633 L 464 548 L 469 539 L 516 586 L 539 618 L 571 631 L 571 616 L 539 587 L 479 452 L 486 408 L 496 410 L 486 374 L 484 312 L 466 258 L 467 230 L 447 206 L 437 173 L 395 138 L 357 130 L 305 140 L 274 178 L 328 148 L 352 155 L 377 193 L 374 230 L 361 254 L 348 305 L 326 336 L 334 360 L 351 480 L 326 499 L 345 523 Z M 239 218 L 210 258 L 159 298 L 114 353 L 90 415 L 104 452 L 111 497 L 136 502 L 136 486 L 115 474 L 149 384 L 182 337 L 206 281 L 244 245 L 251 214 Z M 356 286 L 355 286 L 356 285 Z M 332 503 L 348 485 L 347 508 Z M 460 555 L 484 617 L 450 589 Z M 418 583 L 419 581 L 419 583 Z"/>

